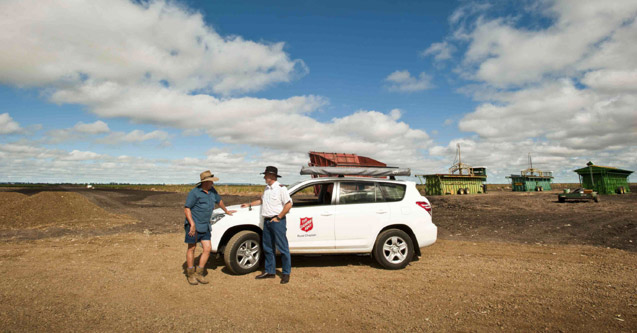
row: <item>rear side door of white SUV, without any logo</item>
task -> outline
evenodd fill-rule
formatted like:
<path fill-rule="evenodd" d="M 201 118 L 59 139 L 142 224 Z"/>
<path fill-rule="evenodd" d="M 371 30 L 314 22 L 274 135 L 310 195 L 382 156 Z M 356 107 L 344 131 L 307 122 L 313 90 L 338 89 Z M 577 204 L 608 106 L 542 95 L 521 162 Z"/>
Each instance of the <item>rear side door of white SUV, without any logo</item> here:
<path fill-rule="evenodd" d="M 337 194 L 336 249 L 366 249 L 374 243 L 377 231 L 390 219 L 387 203 L 383 202 L 376 183 L 370 181 L 340 181 Z"/>

